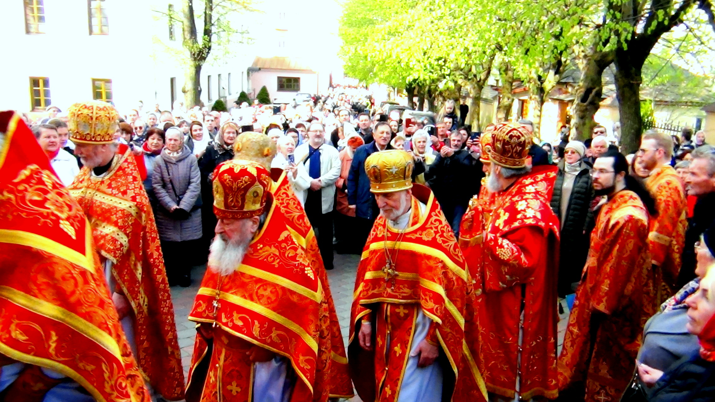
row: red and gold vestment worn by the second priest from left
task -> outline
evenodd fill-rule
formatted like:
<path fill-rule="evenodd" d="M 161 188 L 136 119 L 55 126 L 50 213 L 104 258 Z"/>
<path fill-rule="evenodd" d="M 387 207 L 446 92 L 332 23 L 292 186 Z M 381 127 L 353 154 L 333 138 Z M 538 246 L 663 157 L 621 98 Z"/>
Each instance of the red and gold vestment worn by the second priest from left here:
<path fill-rule="evenodd" d="M 174 323 L 159 232 L 134 156 L 115 155 L 103 177 L 82 168 L 69 186 L 92 225 L 99 255 L 112 262 L 112 276 L 135 318 L 137 361 L 157 393 L 183 398 L 184 371 Z"/>

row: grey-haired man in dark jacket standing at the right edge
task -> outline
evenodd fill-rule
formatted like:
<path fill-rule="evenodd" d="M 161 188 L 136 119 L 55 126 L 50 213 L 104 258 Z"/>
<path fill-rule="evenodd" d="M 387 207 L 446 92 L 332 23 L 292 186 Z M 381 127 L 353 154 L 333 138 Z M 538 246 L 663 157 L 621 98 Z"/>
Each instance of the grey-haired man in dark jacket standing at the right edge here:
<path fill-rule="evenodd" d="M 679 288 L 695 278 L 695 242 L 700 240 L 700 235 L 708 227 L 715 224 L 715 147 L 704 145 L 695 149 L 691 155 L 693 160 L 685 176 L 685 190 L 688 195 L 695 195 L 698 201 L 685 232 L 683 263 L 678 275 Z"/>

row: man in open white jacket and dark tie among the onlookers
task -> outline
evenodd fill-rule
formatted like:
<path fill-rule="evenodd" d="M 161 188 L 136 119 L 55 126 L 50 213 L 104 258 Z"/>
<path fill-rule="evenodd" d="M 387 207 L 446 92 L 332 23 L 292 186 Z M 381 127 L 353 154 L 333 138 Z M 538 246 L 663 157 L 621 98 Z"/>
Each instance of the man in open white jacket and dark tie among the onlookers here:
<path fill-rule="evenodd" d="M 332 210 L 335 204 L 335 181 L 340 177 L 340 156 L 335 147 L 325 144 L 325 127 L 312 123 L 308 141 L 295 148 L 298 170 L 295 186 L 307 190 L 305 213 L 317 237 L 320 256 L 326 270 L 332 270 Z"/>

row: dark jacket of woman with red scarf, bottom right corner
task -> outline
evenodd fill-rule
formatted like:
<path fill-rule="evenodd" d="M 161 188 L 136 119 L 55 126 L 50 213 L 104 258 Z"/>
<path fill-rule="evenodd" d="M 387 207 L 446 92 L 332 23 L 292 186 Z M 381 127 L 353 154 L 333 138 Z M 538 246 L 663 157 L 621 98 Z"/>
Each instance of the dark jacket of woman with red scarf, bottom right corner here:
<path fill-rule="evenodd" d="M 715 362 L 699 356 L 681 359 L 663 374 L 649 393 L 649 402 L 705 402 L 715 400 Z"/>

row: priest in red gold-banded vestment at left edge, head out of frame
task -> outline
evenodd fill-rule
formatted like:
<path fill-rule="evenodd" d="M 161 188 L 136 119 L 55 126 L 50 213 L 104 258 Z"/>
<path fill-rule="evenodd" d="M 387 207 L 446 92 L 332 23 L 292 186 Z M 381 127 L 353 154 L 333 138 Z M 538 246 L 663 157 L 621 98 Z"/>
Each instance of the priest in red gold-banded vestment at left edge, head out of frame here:
<path fill-rule="evenodd" d="M 0 112 L 0 399 L 149 402 L 82 208 Z"/>

